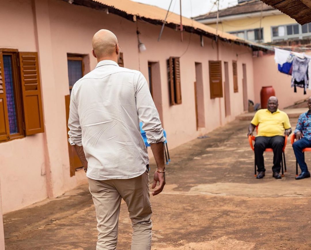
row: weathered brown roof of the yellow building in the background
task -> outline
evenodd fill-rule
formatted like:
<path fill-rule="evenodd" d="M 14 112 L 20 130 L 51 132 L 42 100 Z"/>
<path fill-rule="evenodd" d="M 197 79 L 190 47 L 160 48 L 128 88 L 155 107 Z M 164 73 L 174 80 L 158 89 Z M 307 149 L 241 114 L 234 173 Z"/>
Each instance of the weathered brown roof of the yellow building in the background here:
<path fill-rule="evenodd" d="M 219 11 L 219 17 L 227 17 L 232 15 L 240 15 L 240 14 L 247 14 L 247 13 L 254 13 L 254 12 L 261 12 L 261 11 L 269 11 L 274 10 L 271 6 L 268 6 L 261 1 L 253 0 L 249 2 L 243 2 L 238 5 L 225 8 Z M 203 20 L 208 18 L 215 18 L 217 16 L 217 11 L 207 13 L 204 15 L 200 15 L 197 17 L 193 17 L 194 20 Z"/>

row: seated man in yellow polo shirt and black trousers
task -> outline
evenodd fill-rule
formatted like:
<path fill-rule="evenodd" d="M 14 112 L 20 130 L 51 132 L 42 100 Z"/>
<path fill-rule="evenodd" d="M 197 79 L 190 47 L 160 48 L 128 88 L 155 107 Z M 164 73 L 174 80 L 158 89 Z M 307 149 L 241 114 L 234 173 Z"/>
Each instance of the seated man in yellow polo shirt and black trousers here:
<path fill-rule="evenodd" d="M 254 129 L 258 126 L 258 132 L 255 139 L 255 163 L 257 165 L 257 179 L 265 176 L 265 165 L 263 152 L 266 148 L 273 149 L 273 177 L 281 179 L 281 160 L 284 146 L 284 135 L 290 135 L 291 126 L 288 115 L 278 109 L 279 103 L 275 96 L 268 99 L 267 109 L 260 109 L 256 112 L 253 120 L 249 124 L 248 134 L 253 135 Z"/>

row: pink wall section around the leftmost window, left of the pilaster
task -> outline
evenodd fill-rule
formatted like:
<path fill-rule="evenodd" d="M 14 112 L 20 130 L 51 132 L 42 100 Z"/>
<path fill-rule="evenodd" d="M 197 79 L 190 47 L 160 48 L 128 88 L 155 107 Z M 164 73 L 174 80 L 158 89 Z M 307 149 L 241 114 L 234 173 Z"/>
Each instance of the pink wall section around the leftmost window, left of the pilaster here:
<path fill-rule="evenodd" d="M 5 24 L 0 47 L 37 51 L 31 1 L 0 0 L 0 6 L 0 23 Z M 47 197 L 43 134 L 0 143 L 0 155 L 3 213 Z"/>

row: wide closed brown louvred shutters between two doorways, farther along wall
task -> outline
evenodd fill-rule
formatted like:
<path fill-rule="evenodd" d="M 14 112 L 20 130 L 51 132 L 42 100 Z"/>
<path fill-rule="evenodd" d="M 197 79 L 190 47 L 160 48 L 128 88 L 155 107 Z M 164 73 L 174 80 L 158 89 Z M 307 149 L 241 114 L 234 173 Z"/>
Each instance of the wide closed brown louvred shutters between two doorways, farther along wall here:
<path fill-rule="evenodd" d="M 209 61 L 211 99 L 223 97 L 221 61 Z"/>

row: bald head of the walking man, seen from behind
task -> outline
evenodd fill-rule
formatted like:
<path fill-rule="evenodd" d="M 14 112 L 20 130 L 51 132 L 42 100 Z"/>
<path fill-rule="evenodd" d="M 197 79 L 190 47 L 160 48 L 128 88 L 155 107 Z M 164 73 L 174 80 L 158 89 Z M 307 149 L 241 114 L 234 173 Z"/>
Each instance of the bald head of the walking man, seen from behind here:
<path fill-rule="evenodd" d="M 100 59 L 109 60 L 111 57 L 117 58 L 117 51 L 119 51 L 119 48 L 116 48 L 118 47 L 117 44 L 118 39 L 114 33 L 109 30 L 99 30 L 95 33 L 92 39 L 92 46 L 95 54 L 93 55 L 97 58 L 98 61 L 100 61 Z"/>

